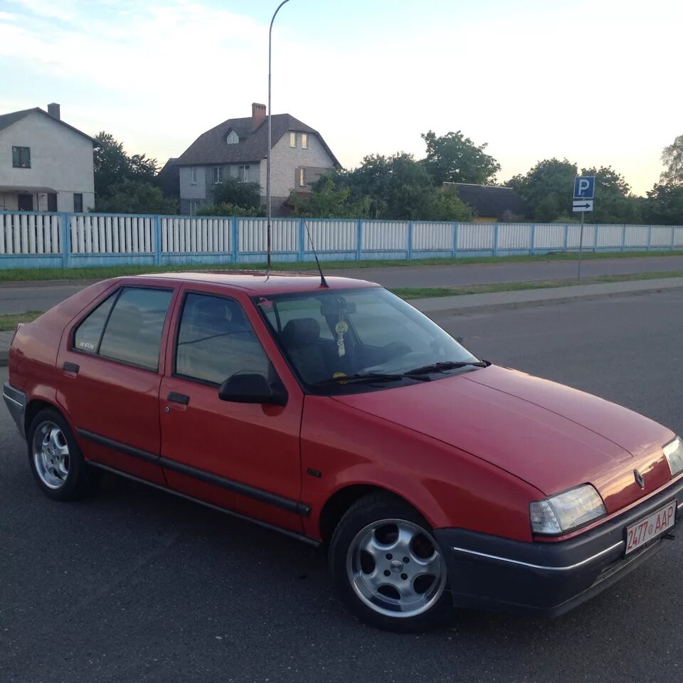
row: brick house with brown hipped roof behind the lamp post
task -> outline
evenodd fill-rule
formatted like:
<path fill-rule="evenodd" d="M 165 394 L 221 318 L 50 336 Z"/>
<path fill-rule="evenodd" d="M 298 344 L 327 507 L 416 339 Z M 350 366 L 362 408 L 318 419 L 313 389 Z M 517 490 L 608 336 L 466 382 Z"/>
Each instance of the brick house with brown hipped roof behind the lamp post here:
<path fill-rule="evenodd" d="M 322 135 L 290 114 L 272 115 L 270 194 L 272 213 L 292 190 L 306 194 L 311 184 L 329 169 L 339 168 L 337 158 Z M 256 182 L 265 203 L 268 120 L 265 105 L 251 105 L 251 116 L 228 119 L 202 133 L 176 159 L 180 171 L 180 212 L 193 214 L 210 202 L 213 185 L 231 176 Z"/>

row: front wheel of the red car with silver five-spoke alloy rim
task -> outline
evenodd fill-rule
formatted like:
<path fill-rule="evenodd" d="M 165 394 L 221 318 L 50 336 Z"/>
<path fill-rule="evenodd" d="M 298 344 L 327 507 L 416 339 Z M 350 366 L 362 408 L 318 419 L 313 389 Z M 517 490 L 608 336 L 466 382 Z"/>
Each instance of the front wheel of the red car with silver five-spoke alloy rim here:
<path fill-rule="evenodd" d="M 346 605 L 377 628 L 423 631 L 452 614 L 443 551 L 422 515 L 392 494 L 370 494 L 346 511 L 328 561 Z"/>

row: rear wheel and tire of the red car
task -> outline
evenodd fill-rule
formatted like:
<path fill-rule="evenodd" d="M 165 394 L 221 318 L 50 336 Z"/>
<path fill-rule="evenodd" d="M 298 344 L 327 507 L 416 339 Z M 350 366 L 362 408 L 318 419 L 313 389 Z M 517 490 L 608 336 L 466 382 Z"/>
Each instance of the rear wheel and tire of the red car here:
<path fill-rule="evenodd" d="M 38 487 L 53 500 L 78 500 L 95 493 L 99 472 L 83 459 L 67 421 L 46 408 L 28 428 L 28 462 Z"/>

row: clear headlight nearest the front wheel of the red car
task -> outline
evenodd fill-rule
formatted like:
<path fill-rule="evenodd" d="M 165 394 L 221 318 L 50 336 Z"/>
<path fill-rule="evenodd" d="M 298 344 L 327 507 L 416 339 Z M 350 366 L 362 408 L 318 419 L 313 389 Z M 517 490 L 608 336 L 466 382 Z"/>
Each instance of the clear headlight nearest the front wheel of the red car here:
<path fill-rule="evenodd" d="M 566 534 L 577 526 L 607 514 L 603 499 L 590 484 L 583 484 L 529 505 L 534 534 Z"/>

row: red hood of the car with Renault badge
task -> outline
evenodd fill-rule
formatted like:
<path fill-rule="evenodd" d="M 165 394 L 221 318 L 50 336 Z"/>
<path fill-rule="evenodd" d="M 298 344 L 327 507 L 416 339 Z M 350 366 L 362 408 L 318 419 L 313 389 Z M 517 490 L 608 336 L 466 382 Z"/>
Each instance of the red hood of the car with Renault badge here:
<path fill-rule="evenodd" d="M 491 462 L 546 495 L 585 482 L 608 512 L 665 485 L 673 433 L 627 408 L 523 372 L 489 366 L 334 400 Z M 633 470 L 646 475 L 635 483 Z"/>

